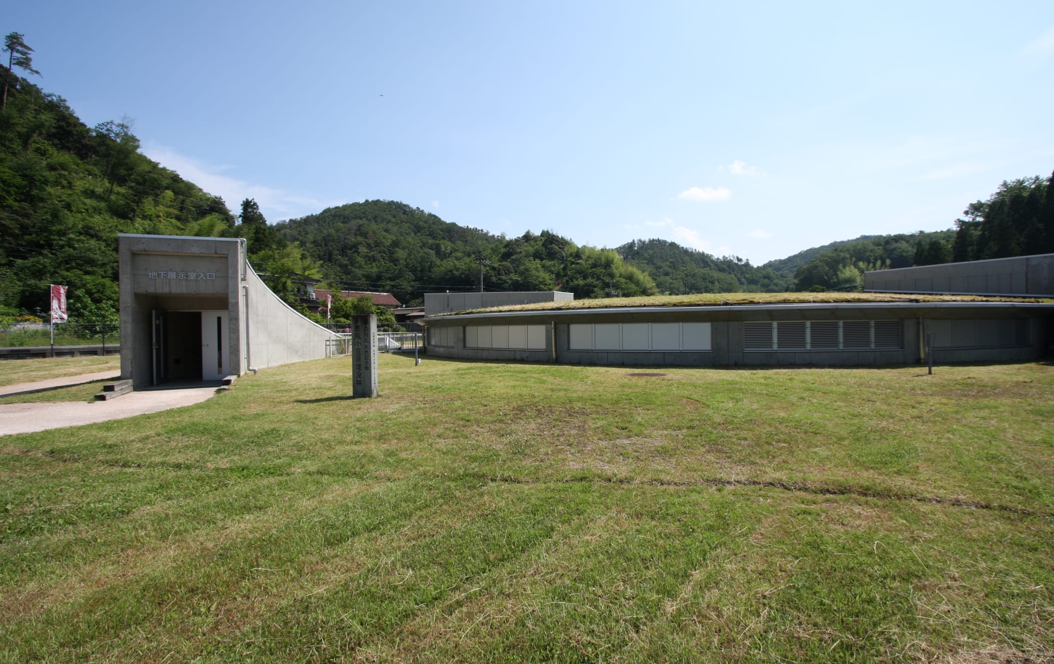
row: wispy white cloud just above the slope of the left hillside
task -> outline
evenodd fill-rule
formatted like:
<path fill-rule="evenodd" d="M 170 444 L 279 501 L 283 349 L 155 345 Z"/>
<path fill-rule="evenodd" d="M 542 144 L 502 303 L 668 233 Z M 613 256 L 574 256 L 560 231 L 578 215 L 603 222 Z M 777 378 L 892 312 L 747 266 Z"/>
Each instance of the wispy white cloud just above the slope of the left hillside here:
<path fill-rule="evenodd" d="M 143 147 L 142 153 L 210 194 L 222 196 L 227 207 L 235 214 L 238 213 L 239 206 L 246 198 L 255 199 L 260 207 L 260 212 L 271 221 L 320 212 L 324 208 L 343 202 L 320 201 L 310 196 L 299 196 L 272 187 L 251 184 L 223 175 L 223 171 L 233 168 L 231 165 L 206 163 L 153 142 L 148 142 Z"/>

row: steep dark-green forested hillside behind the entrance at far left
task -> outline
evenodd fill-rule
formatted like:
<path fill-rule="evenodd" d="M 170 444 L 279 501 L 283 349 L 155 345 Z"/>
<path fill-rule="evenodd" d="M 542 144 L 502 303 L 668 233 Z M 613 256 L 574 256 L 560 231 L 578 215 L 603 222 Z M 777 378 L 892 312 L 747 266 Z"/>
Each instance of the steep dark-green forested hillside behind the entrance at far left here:
<path fill-rule="evenodd" d="M 0 75 L 7 75 L 0 67 Z M 114 320 L 117 234 L 220 235 L 223 200 L 139 154 L 130 123 L 85 126 L 57 95 L 11 77 L 0 110 L 0 316 L 47 309 Z"/>

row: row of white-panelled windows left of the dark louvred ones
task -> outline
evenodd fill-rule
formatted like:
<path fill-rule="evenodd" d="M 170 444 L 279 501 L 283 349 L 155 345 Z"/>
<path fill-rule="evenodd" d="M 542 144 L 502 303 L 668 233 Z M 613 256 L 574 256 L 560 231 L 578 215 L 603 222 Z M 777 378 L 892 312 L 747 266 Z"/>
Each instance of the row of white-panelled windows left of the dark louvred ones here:
<path fill-rule="evenodd" d="M 571 350 L 710 350 L 709 323 L 605 323 L 570 328 Z"/>

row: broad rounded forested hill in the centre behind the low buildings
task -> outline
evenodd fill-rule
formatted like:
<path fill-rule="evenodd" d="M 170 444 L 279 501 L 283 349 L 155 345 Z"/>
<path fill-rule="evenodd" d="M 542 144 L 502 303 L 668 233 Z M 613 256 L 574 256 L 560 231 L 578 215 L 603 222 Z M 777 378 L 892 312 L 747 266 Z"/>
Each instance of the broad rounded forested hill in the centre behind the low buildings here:
<path fill-rule="evenodd" d="M 506 238 L 391 200 L 329 208 L 279 222 L 278 236 L 323 263 L 332 285 L 388 291 L 404 302 L 438 290 L 547 291 L 577 298 L 657 292 L 612 250 L 579 247 L 549 231 Z"/>

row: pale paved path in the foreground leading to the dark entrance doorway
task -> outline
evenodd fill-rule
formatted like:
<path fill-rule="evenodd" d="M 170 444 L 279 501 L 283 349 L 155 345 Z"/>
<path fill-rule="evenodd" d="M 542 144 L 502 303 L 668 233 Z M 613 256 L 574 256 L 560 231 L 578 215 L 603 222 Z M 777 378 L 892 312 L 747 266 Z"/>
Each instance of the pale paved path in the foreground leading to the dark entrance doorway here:
<path fill-rule="evenodd" d="M 130 392 L 109 402 L 91 404 L 85 402 L 0 404 L 0 435 L 76 427 L 143 413 L 156 413 L 160 410 L 198 404 L 215 393 L 216 388 L 204 387 Z"/>

